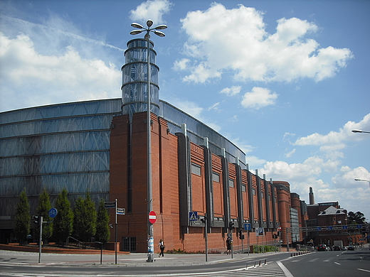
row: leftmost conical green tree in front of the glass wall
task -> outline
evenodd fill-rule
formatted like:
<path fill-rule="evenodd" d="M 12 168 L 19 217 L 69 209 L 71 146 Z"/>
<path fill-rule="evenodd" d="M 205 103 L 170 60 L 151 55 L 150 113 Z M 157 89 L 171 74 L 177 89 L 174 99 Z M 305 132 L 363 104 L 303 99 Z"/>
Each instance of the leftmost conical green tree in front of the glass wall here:
<path fill-rule="evenodd" d="M 19 244 L 23 244 L 31 227 L 30 204 L 24 189 L 19 195 L 19 202 L 16 205 L 16 220 L 14 223 L 14 234 L 19 240 Z"/>

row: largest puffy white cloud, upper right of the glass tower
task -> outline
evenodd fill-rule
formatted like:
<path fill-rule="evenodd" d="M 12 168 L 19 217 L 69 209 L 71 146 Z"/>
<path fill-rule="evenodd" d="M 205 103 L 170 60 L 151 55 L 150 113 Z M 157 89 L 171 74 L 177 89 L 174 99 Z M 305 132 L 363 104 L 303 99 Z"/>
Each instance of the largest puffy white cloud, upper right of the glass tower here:
<path fill-rule="evenodd" d="M 206 82 L 226 70 L 238 81 L 320 81 L 335 75 L 353 58 L 347 48 L 319 48 L 317 41 L 307 38 L 318 27 L 299 18 L 277 20 L 271 35 L 265 31 L 263 13 L 243 5 L 226 9 L 213 3 L 206 11 L 190 11 L 181 23 L 189 36 L 185 53 L 198 64 L 190 68 L 184 81 Z M 207 74 L 199 75 L 201 70 Z"/>

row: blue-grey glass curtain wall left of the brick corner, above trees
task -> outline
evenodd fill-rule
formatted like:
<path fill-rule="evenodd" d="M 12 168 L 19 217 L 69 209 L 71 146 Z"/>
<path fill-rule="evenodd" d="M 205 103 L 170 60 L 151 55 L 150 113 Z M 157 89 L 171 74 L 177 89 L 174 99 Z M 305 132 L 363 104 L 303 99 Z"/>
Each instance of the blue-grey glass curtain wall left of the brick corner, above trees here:
<path fill-rule="evenodd" d="M 87 191 L 109 200 L 110 125 L 122 99 L 56 104 L 0 113 L 1 219 L 14 219 L 26 188 L 31 212 L 43 188 L 66 188 L 74 205 Z"/>

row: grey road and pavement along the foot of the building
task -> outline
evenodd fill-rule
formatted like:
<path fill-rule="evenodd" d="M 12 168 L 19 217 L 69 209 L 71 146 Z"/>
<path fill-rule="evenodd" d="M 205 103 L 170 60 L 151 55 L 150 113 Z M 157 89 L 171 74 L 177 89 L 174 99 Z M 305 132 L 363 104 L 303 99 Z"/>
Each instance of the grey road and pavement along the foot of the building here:
<path fill-rule="evenodd" d="M 0 276 L 370 276 L 369 248 L 300 256 L 269 254 L 168 254 L 147 263 L 146 254 L 38 254 L 0 251 Z"/>

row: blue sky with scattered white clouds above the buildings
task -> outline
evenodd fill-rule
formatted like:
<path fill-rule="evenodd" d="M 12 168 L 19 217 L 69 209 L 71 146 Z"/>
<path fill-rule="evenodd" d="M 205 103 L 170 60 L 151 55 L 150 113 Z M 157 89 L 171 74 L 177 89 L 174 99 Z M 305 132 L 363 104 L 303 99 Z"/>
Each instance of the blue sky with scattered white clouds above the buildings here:
<path fill-rule="evenodd" d="M 370 1 L 0 0 L 0 112 L 121 97 L 137 22 L 159 99 L 243 150 L 309 203 L 370 219 Z M 231 161 L 233 162 L 233 161 Z"/>

